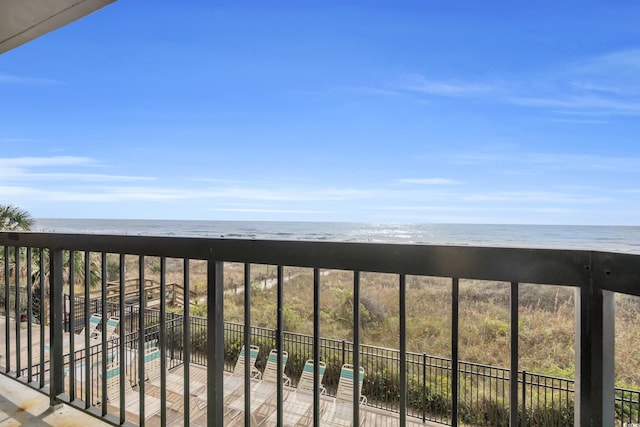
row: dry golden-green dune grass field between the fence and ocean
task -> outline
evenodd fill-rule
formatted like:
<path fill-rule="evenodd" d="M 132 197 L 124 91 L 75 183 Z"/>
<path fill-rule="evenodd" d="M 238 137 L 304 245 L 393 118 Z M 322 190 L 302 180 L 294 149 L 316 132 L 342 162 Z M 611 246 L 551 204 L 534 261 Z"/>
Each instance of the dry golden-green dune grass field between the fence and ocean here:
<path fill-rule="evenodd" d="M 138 258 L 127 257 L 127 271 L 138 271 Z M 145 260 L 145 277 L 160 279 L 160 261 Z M 284 269 L 284 321 L 288 331 L 313 333 L 313 271 Z M 129 275 L 129 273 L 128 273 Z M 251 318 L 255 326 L 276 323 L 275 266 L 251 266 Z M 225 264 L 225 319 L 244 319 L 244 266 Z M 110 280 L 117 279 L 111 277 Z M 167 283 L 182 284 L 182 260 L 167 260 Z M 362 273 L 361 342 L 399 348 L 398 278 Z M 190 287 L 198 294 L 192 315 L 206 315 L 206 263 L 191 261 Z M 429 355 L 451 356 L 451 279 L 407 278 L 407 348 Z M 509 366 L 510 284 L 460 280 L 460 359 L 492 366 Z M 520 285 L 520 369 L 540 374 L 574 377 L 574 290 L 561 286 Z M 350 340 L 353 313 L 353 273 L 325 271 L 321 276 L 323 337 Z M 180 311 L 174 307 L 172 310 Z M 616 297 L 616 383 L 640 387 L 640 300 Z"/>

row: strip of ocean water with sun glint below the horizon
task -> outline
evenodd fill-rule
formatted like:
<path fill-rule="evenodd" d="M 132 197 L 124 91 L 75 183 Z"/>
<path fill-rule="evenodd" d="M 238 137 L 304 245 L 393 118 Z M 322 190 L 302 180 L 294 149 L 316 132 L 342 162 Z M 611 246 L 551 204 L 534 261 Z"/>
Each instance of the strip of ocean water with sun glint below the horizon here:
<path fill-rule="evenodd" d="M 36 219 L 34 231 L 226 239 L 313 240 L 640 254 L 640 227 L 347 222 Z"/>

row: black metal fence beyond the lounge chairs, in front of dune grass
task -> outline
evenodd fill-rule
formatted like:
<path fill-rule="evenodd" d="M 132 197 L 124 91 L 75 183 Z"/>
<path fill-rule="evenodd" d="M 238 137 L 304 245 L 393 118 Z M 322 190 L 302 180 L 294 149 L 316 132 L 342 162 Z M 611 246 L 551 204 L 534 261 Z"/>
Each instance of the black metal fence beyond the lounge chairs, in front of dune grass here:
<path fill-rule="evenodd" d="M 101 310 L 100 300 L 89 302 L 92 313 Z M 107 303 L 107 311 L 117 315 L 117 305 Z M 84 298 L 76 297 L 76 320 L 83 325 Z M 145 342 L 158 339 L 160 311 L 143 309 L 147 333 Z M 139 306 L 126 307 L 123 320 L 129 325 L 125 344 L 137 345 L 137 319 Z M 65 317 L 66 319 L 66 317 Z M 184 362 L 185 342 L 182 337 L 184 315 L 167 313 L 167 355 L 171 367 Z M 190 316 L 190 362 L 206 366 L 207 319 Z M 76 332 L 78 331 L 76 328 Z M 244 325 L 225 322 L 225 368 L 233 370 L 244 338 Z M 285 332 L 283 348 L 289 353 L 285 373 L 293 385 L 299 378 L 304 363 L 313 354 L 313 336 Z M 324 386 L 334 395 L 340 376 L 340 368 L 353 362 L 353 343 L 346 340 L 320 339 L 321 359 L 327 363 Z M 251 327 L 251 343 L 260 347 L 256 367 L 264 369 L 269 351 L 276 346 L 276 330 Z M 78 356 L 81 356 L 78 354 Z M 367 404 L 389 411 L 398 411 L 400 398 L 400 352 L 371 345 L 360 345 L 360 363 L 365 368 L 362 393 Z M 451 421 L 451 360 L 426 353 L 407 353 L 407 415 L 422 421 L 449 423 Z M 458 365 L 460 397 L 458 414 L 460 421 L 472 425 L 509 425 L 509 369 L 460 361 Z M 137 375 L 137 366 L 128 368 L 130 378 Z M 98 380 L 97 377 L 95 380 Z M 518 372 L 520 388 L 519 425 L 573 426 L 574 380 L 531 373 Z M 640 391 L 616 388 L 616 417 L 621 423 L 640 422 Z"/>

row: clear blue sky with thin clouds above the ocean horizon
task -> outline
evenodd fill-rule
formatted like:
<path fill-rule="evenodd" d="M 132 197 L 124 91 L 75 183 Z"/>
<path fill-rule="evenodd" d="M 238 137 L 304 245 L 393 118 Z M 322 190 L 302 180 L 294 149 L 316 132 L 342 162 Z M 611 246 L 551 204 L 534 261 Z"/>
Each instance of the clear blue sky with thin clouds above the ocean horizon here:
<path fill-rule="evenodd" d="M 0 56 L 0 202 L 640 225 L 636 1 L 150 4 Z"/>

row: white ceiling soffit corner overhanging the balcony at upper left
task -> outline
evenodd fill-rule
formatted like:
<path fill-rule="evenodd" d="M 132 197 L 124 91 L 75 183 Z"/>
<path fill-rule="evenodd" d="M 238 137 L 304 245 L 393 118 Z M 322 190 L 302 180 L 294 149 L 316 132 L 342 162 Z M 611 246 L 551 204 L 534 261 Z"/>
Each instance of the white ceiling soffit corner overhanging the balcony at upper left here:
<path fill-rule="evenodd" d="M 115 0 L 0 0 L 0 53 L 80 19 Z"/>

